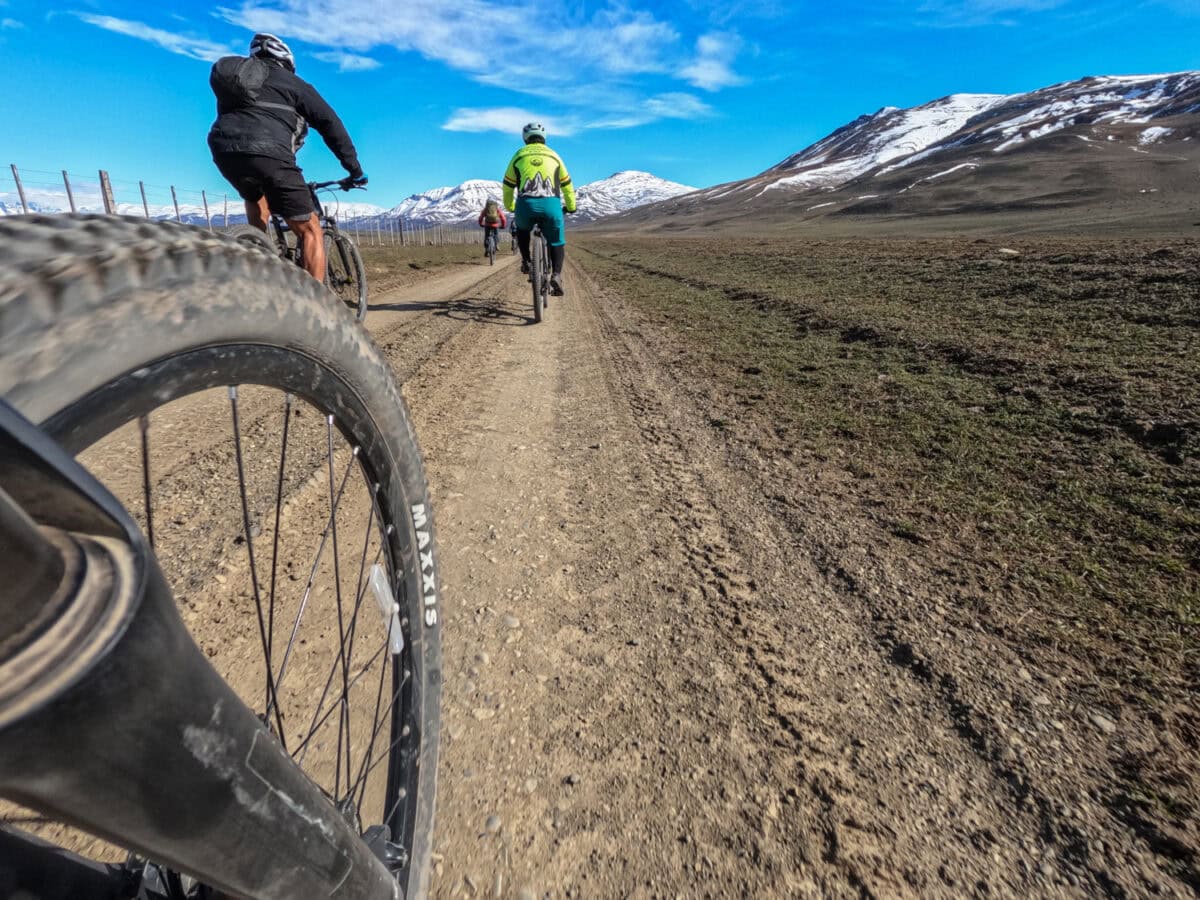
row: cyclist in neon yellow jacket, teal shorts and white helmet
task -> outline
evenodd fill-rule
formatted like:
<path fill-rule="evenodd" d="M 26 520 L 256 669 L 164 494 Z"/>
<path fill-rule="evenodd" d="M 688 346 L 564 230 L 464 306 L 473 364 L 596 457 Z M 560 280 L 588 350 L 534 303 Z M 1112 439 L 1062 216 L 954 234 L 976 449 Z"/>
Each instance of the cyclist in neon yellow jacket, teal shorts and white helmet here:
<path fill-rule="evenodd" d="M 504 208 L 516 210 L 521 271 L 529 271 L 529 234 L 540 226 L 550 244 L 551 293 L 563 295 L 563 262 L 566 259 L 566 230 L 563 211 L 575 212 L 575 188 L 566 164 L 546 146 L 546 128 L 529 122 L 521 131 L 524 146 L 512 155 L 504 170 Z M 516 190 L 516 204 L 512 191 Z"/>

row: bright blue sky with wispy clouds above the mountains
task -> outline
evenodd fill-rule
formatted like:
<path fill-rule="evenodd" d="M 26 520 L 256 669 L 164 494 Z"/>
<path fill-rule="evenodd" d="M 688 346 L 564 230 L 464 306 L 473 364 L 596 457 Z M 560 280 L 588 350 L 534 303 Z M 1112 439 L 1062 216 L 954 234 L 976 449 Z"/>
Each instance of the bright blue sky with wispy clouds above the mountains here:
<path fill-rule="evenodd" d="M 226 190 L 208 70 L 254 30 L 292 44 L 379 205 L 499 179 L 528 119 L 577 184 L 707 186 L 883 106 L 1200 68 L 1200 0 L 0 0 L 0 162 Z M 300 162 L 341 175 L 316 137 Z"/>

